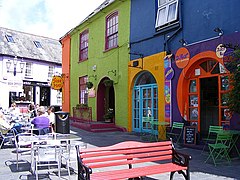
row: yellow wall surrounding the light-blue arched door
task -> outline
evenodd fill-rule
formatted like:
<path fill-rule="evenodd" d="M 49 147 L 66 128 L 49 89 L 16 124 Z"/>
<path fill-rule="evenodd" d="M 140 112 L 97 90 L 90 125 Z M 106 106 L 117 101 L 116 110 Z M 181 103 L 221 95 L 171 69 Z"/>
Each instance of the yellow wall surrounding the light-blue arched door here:
<path fill-rule="evenodd" d="M 164 57 L 165 52 L 154 54 L 151 56 L 144 57 L 143 59 L 136 59 L 133 61 L 139 61 L 139 66 L 143 69 L 130 67 L 133 61 L 128 63 L 128 131 L 132 131 L 132 90 L 134 86 L 135 79 L 138 77 L 139 73 L 143 71 L 149 71 L 156 79 L 158 85 L 158 120 L 164 121 Z"/>

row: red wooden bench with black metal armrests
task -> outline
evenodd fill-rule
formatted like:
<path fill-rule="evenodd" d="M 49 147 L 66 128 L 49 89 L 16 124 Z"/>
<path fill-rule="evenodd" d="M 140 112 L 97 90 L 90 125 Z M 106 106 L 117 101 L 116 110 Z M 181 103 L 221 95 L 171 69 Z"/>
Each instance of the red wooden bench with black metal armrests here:
<path fill-rule="evenodd" d="M 119 180 L 175 172 L 190 179 L 191 156 L 177 152 L 171 141 L 121 142 L 112 146 L 77 150 L 79 180 Z"/>

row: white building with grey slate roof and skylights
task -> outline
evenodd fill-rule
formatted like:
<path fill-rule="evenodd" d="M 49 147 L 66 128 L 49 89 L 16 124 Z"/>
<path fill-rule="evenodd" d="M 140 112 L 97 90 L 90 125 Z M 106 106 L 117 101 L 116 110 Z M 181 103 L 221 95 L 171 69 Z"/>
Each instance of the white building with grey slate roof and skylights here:
<path fill-rule="evenodd" d="M 51 89 L 53 75 L 62 73 L 60 42 L 2 27 L 0 32 L 1 107 L 61 105 L 61 92 Z"/>

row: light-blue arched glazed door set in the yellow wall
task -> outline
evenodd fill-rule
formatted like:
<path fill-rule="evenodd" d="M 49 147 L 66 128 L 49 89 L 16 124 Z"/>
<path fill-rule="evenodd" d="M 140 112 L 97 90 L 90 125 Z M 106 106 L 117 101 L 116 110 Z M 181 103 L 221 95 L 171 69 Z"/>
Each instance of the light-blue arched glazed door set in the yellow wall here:
<path fill-rule="evenodd" d="M 143 128 L 143 117 L 158 120 L 158 87 L 153 75 L 144 71 L 138 75 L 133 88 L 132 130 L 148 132 Z"/>

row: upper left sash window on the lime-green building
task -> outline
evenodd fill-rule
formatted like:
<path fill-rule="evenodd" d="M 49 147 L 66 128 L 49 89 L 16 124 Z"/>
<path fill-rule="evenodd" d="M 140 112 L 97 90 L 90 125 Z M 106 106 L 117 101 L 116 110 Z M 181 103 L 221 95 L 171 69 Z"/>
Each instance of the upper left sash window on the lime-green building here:
<path fill-rule="evenodd" d="M 88 30 L 80 34 L 79 61 L 88 59 Z"/>

